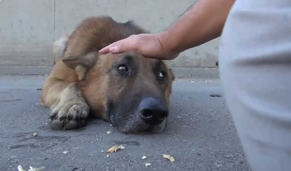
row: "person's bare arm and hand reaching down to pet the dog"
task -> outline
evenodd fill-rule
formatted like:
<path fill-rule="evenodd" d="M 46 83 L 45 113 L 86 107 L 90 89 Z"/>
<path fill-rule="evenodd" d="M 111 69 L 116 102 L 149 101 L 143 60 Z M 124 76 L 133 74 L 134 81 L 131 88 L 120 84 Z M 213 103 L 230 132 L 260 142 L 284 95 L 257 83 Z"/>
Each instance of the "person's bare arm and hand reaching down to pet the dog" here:
<path fill-rule="evenodd" d="M 221 35 L 235 0 L 197 0 L 167 30 L 132 35 L 112 43 L 100 53 L 135 51 L 150 58 L 175 59 L 179 53 Z"/>

